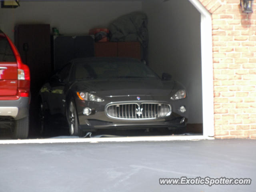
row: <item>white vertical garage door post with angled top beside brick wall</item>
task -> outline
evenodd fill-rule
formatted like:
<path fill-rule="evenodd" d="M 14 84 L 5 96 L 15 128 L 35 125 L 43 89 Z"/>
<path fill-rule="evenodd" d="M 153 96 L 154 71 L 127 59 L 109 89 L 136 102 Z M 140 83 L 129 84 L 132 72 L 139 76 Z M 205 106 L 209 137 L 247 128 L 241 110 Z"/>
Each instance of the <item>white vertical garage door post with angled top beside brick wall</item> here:
<path fill-rule="evenodd" d="M 212 16 L 199 0 L 189 0 L 201 14 L 203 135 L 214 136 Z"/>

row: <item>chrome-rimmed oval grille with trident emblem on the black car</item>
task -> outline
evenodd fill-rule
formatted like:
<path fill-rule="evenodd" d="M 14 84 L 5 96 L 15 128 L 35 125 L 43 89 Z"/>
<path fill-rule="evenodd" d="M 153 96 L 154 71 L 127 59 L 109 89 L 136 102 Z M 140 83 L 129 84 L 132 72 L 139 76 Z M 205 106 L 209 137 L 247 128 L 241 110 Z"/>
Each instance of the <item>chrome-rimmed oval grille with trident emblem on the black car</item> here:
<path fill-rule="evenodd" d="M 171 106 L 162 103 L 111 104 L 106 108 L 106 113 L 111 118 L 130 120 L 164 118 L 171 112 Z"/>

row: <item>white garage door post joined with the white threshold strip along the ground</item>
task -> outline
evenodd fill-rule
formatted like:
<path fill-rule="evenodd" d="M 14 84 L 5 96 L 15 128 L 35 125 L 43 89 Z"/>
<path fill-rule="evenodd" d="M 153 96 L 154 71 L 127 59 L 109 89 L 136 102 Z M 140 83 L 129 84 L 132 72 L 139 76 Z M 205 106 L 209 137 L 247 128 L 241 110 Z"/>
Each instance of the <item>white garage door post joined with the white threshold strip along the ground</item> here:
<path fill-rule="evenodd" d="M 0 144 L 20 143 L 66 143 L 66 142 L 132 142 L 214 139 L 214 96 L 212 62 L 212 17 L 199 0 L 188 0 L 201 14 L 201 57 L 202 57 L 202 106 L 203 136 L 154 136 L 125 138 L 69 138 L 69 139 L 29 139 L 0 140 Z"/>

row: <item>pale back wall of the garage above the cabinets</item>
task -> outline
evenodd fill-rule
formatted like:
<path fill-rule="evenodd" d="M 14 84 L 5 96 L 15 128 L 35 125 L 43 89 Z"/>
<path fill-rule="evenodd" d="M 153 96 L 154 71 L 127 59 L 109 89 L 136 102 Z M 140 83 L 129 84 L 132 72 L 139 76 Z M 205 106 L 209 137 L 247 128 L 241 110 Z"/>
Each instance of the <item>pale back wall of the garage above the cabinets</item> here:
<path fill-rule="evenodd" d="M 88 34 L 126 13 L 140 11 L 140 1 L 20 1 L 15 9 L 0 8 L 0 28 L 14 40 L 16 24 L 50 24 L 61 34 Z"/>

